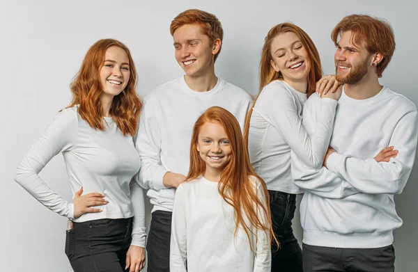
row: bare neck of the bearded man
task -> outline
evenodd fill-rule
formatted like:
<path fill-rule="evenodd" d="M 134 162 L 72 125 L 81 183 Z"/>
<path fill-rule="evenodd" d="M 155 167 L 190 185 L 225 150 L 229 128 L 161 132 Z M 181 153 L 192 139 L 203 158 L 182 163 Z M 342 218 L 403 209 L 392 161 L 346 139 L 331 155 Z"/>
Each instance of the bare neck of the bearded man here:
<path fill-rule="evenodd" d="M 366 74 L 359 82 L 346 84 L 344 86 L 344 92 L 350 98 L 361 100 L 377 95 L 382 88 L 377 74 Z"/>

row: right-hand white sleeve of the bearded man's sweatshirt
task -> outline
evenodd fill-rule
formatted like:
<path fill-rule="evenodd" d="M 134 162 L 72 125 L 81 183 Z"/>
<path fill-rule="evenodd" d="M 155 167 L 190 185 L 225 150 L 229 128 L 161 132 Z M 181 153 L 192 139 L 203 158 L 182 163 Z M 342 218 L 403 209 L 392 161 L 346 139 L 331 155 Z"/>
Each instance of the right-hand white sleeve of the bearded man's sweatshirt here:
<path fill-rule="evenodd" d="M 417 111 L 411 111 L 399 120 L 389 142 L 389 146 L 393 145 L 399 152 L 389 162 L 356 159 L 334 152 L 327 159 L 327 167 L 363 193 L 401 193 L 415 161 L 417 124 Z"/>

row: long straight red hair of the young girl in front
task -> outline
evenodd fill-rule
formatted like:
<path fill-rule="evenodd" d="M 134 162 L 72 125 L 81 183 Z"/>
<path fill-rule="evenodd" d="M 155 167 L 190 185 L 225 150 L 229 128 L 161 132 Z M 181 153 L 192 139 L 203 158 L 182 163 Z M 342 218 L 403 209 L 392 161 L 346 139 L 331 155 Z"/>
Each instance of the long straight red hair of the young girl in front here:
<path fill-rule="evenodd" d="M 231 144 L 231 160 L 224 166 L 224 170 L 222 170 L 218 191 L 222 195 L 222 198 L 234 209 L 234 234 L 238 230 L 238 227 L 242 227 L 249 240 L 251 234 L 255 235 L 245 223 L 244 218 L 247 217 L 252 226 L 258 230 L 263 230 L 267 237 L 270 238 L 270 241 L 274 240 L 278 245 L 279 242 L 274 237 L 272 230 L 267 186 L 265 186 L 263 179 L 258 177 L 254 172 L 249 162 L 248 152 L 245 148 L 238 120 L 229 111 L 226 111 L 226 109 L 222 109 L 219 106 L 212 106 L 194 124 L 192 143 L 190 144 L 190 168 L 186 180 L 196 179 L 196 177 L 205 173 L 206 163 L 201 159 L 196 145 L 199 139 L 199 131 L 206 122 L 212 122 L 223 127 Z M 251 181 L 251 176 L 260 182 L 263 190 L 263 199 L 260 199 L 257 195 L 254 182 Z M 268 219 L 267 224 L 261 219 L 262 216 Z M 252 247 L 251 250 L 255 253 Z"/>

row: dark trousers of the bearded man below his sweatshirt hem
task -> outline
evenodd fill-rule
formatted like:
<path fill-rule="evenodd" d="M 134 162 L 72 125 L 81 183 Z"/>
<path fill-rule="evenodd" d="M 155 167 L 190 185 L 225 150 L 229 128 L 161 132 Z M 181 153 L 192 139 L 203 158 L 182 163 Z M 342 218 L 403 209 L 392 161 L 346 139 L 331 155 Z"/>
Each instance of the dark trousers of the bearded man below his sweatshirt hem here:
<path fill-rule="evenodd" d="M 328 248 L 303 244 L 305 272 L 394 272 L 392 245 L 382 248 Z"/>

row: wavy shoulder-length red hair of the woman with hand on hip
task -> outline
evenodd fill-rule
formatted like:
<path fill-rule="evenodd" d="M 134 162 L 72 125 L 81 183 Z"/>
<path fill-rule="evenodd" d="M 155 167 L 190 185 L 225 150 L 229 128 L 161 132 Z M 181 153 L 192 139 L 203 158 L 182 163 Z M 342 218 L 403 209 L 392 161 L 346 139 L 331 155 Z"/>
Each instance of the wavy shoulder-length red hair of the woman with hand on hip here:
<path fill-rule="evenodd" d="M 139 113 L 142 102 L 137 95 L 137 70 L 129 49 L 122 42 L 113 39 L 98 40 L 88 49 L 82 67 L 70 84 L 72 102 L 69 107 L 79 105 L 79 114 L 93 129 L 104 130 L 102 115 L 102 85 L 100 83 L 100 69 L 104 65 L 104 56 L 109 47 L 123 49 L 130 64 L 130 79 L 125 90 L 113 99 L 110 115 L 124 135 L 134 136 L 137 132 Z"/>

